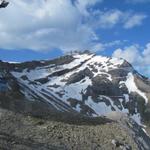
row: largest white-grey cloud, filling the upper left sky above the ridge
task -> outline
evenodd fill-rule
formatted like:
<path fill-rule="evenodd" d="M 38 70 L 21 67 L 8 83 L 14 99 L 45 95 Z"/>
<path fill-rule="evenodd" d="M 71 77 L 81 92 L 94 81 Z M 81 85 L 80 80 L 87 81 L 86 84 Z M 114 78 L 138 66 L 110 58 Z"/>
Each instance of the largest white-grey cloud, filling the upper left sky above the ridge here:
<path fill-rule="evenodd" d="M 81 4 L 86 10 L 94 2 Z M 0 48 L 95 49 L 96 38 L 94 30 L 82 23 L 81 12 L 70 0 L 32 0 L 30 3 L 14 0 L 1 11 Z"/>

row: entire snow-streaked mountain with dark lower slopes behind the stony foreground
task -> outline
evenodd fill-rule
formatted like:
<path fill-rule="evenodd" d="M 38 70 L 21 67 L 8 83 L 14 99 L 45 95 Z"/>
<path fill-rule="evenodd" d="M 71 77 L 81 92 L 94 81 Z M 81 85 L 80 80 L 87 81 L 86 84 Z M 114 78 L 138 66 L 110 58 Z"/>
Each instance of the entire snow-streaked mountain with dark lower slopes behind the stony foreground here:
<path fill-rule="evenodd" d="M 150 80 L 124 59 L 83 52 L 19 64 L 1 61 L 0 107 L 55 120 L 63 114 L 59 121 L 79 124 L 83 118 L 88 124 L 122 120 L 149 143 L 143 124 L 149 129 Z M 135 143 L 146 149 L 139 139 Z"/>

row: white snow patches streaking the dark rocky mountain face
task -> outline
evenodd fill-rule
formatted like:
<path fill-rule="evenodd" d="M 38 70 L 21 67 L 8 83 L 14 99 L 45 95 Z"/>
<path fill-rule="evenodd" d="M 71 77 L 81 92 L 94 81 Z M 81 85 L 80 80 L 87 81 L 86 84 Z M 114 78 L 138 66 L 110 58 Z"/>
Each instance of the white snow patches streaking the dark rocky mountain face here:
<path fill-rule="evenodd" d="M 12 75 L 18 79 L 21 84 L 27 86 L 31 91 L 34 91 L 40 98 L 43 98 L 47 102 L 51 103 L 56 109 L 61 110 L 58 104 L 55 104 L 54 101 L 51 101 L 51 98 L 55 98 L 68 106 L 71 106 L 69 99 L 71 99 L 76 105 L 71 106 L 74 110 L 80 112 L 82 105 L 92 109 L 92 116 L 105 115 L 112 111 L 129 113 L 126 105 L 130 102 L 129 94 L 131 92 L 136 92 L 138 95 L 142 96 L 145 99 L 145 102 L 148 102 L 148 98 L 145 93 L 140 91 L 136 84 L 134 83 L 134 76 L 132 72 L 129 72 L 126 76 L 126 80 L 121 80 L 118 84 L 119 86 L 125 85 L 128 89 L 128 93 L 123 93 L 122 95 L 116 96 L 116 102 L 114 98 L 112 99 L 108 95 L 99 95 L 99 98 L 102 97 L 104 100 L 95 101 L 91 95 L 87 96 L 86 99 L 83 97 L 87 94 L 88 88 L 93 86 L 93 78 L 100 76 L 106 79 L 104 82 L 113 83 L 114 76 L 111 73 L 108 73 L 112 70 L 117 70 L 124 63 L 123 59 L 118 58 L 108 58 L 102 56 L 95 56 L 93 54 L 75 54 L 73 56 L 75 59 L 63 65 L 46 65 L 43 67 L 36 67 L 35 69 L 23 69 L 21 72 L 12 71 Z M 56 72 L 64 71 L 68 69 L 68 72 L 65 72 L 61 75 L 53 75 Z M 88 74 L 86 76 L 81 76 L 82 78 L 76 82 L 69 83 L 70 78 L 75 76 L 81 71 L 88 69 L 92 72 L 92 77 Z M 26 76 L 23 79 L 23 76 Z M 38 80 L 46 79 L 46 82 L 41 83 Z M 27 91 L 26 91 L 27 92 Z M 32 92 L 29 93 L 29 97 L 32 97 Z M 108 93 L 109 94 L 109 93 Z M 28 95 L 26 93 L 26 95 Z M 113 96 L 113 95 L 112 95 Z M 58 103 L 58 101 L 57 101 Z M 63 109 L 64 110 L 64 109 Z M 131 117 L 133 117 L 137 122 L 140 122 L 140 115 L 138 112 L 135 112 Z"/>

